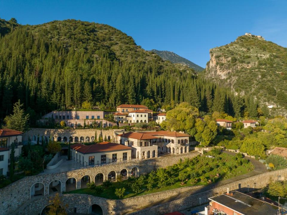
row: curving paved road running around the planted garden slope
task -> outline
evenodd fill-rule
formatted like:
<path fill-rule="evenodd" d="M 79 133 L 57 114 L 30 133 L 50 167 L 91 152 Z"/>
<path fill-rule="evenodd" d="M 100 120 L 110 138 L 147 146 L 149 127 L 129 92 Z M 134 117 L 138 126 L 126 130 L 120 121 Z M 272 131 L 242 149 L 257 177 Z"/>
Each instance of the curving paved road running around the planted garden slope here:
<path fill-rule="evenodd" d="M 228 152 L 228 151 L 224 151 L 224 153 L 227 153 L 229 155 L 236 155 L 236 153 Z M 193 189 L 193 190 L 184 191 L 184 192 L 180 193 L 179 195 L 170 196 L 167 199 L 163 199 L 161 201 L 154 202 L 154 203 L 152 203 L 152 204 L 150 204 L 148 206 L 145 206 L 145 207 L 142 207 L 142 208 L 137 208 L 134 211 L 129 211 L 127 214 L 130 214 L 130 213 L 135 212 L 135 211 L 144 210 L 145 208 L 150 208 L 150 207 L 153 207 L 153 206 L 156 206 L 156 205 L 160 205 L 160 204 L 163 204 L 163 203 L 166 203 L 166 202 L 172 202 L 172 201 L 177 200 L 177 199 L 185 198 L 185 197 L 194 195 L 196 193 L 201 193 L 201 192 L 204 192 L 204 191 L 207 191 L 207 190 L 211 190 L 211 189 L 216 188 L 216 187 L 223 186 L 225 184 L 229 184 L 231 182 L 239 181 L 239 180 L 242 180 L 242 179 L 245 179 L 245 178 L 249 178 L 249 177 L 254 176 L 254 175 L 259 175 L 261 173 L 267 172 L 265 164 L 260 163 L 259 161 L 257 161 L 256 159 L 253 159 L 253 158 L 247 158 L 247 157 L 244 157 L 244 158 L 249 160 L 254 165 L 254 169 L 251 172 L 248 172 L 248 173 L 246 173 L 244 175 L 239 175 L 239 176 L 236 176 L 236 177 L 233 177 L 233 178 L 229 178 L 229 179 L 225 179 L 225 180 L 222 180 L 222 181 L 218 181 L 216 183 L 209 184 L 207 186 L 203 186 L 202 185 L 202 186 L 200 186 L 200 187 L 198 187 L 196 189 Z"/>

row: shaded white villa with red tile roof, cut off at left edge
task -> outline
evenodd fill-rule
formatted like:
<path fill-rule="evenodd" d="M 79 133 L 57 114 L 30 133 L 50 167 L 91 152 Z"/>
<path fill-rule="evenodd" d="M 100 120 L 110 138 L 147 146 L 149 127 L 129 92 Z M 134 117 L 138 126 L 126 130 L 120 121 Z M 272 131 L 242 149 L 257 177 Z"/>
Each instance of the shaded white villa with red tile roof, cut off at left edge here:
<path fill-rule="evenodd" d="M 10 163 L 12 143 L 15 149 L 15 161 L 18 161 L 22 152 L 23 132 L 7 128 L 0 128 L 0 175 L 7 175 Z"/>

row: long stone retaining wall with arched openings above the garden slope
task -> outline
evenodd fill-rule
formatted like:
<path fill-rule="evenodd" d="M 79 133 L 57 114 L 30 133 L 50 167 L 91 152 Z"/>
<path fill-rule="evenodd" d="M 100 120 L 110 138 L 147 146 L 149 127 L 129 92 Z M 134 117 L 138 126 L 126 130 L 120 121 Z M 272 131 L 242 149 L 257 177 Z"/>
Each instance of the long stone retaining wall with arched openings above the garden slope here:
<path fill-rule="evenodd" d="M 178 163 L 179 159 L 193 158 L 197 155 L 199 155 L 198 152 L 192 152 L 160 158 L 150 158 L 141 161 L 131 160 L 127 162 L 77 169 L 67 172 L 28 176 L 8 185 L 7 187 L 0 189 L 0 202 L 2 203 L 0 214 L 10 214 L 25 202 L 29 201 L 31 187 L 39 182 L 44 184 L 44 195 L 46 196 L 49 195 L 49 184 L 55 180 L 59 180 L 61 182 L 60 189 L 61 191 L 65 191 L 67 179 L 75 178 L 77 181 L 76 187 L 79 189 L 81 186 L 81 178 L 85 175 L 89 175 L 91 181 L 94 181 L 95 176 L 98 173 L 102 173 L 104 175 L 104 179 L 106 179 L 109 172 L 115 171 L 116 174 L 120 174 L 122 169 L 126 169 L 128 175 L 130 175 L 131 170 L 134 167 L 138 169 L 139 175 L 147 174 L 159 167 L 167 167 Z M 41 209 L 38 208 L 38 210 Z"/>

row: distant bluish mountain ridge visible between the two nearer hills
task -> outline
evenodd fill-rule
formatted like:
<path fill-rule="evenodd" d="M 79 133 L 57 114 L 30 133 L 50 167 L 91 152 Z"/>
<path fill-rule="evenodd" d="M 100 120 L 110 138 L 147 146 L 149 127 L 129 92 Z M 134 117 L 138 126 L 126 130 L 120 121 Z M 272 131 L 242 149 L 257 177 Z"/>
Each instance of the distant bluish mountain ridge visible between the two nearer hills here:
<path fill-rule="evenodd" d="M 169 51 L 159 51 L 156 49 L 152 49 L 151 52 L 156 53 L 158 56 L 160 56 L 164 60 L 169 60 L 172 63 L 180 63 L 183 65 L 187 65 L 189 68 L 194 69 L 196 72 L 201 72 L 204 70 L 199 65 L 196 65 L 195 63 L 191 62 L 190 60 L 187 60 L 184 57 L 179 56 L 178 54 L 175 54 L 174 52 L 169 52 Z"/>

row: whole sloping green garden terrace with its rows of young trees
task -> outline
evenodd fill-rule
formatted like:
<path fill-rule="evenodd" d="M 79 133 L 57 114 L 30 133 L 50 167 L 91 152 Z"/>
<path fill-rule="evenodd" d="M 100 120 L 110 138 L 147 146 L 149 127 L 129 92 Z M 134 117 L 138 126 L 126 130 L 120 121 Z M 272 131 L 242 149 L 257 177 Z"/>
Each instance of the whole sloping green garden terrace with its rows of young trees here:
<path fill-rule="evenodd" d="M 106 199 L 119 199 L 115 195 L 116 188 L 125 188 L 123 198 L 129 198 L 179 187 L 206 186 L 246 174 L 253 169 L 253 164 L 239 155 L 232 156 L 226 153 L 215 155 L 208 152 L 192 159 L 186 159 L 173 166 L 168 166 L 165 169 L 158 169 L 148 175 L 141 175 L 139 178 L 131 177 L 128 180 L 114 182 L 108 187 L 99 185 L 94 189 L 83 188 L 65 193 L 80 193 Z M 138 191 L 135 191 L 134 187 L 139 187 Z"/>

